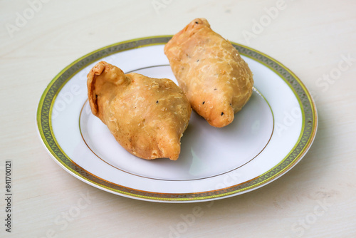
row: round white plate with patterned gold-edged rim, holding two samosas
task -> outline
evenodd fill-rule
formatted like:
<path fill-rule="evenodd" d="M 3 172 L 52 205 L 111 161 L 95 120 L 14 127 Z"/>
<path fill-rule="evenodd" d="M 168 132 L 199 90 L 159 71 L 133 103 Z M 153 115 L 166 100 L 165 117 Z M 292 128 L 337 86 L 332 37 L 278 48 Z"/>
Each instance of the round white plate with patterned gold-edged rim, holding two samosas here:
<path fill-rule="evenodd" d="M 317 130 L 313 99 L 288 68 L 265 54 L 233 45 L 253 72 L 253 95 L 235 120 L 213 128 L 196 113 L 177 161 L 142 160 L 123 149 L 90 111 L 86 76 L 107 61 L 125 73 L 177 81 L 163 47 L 172 36 L 115 43 L 63 69 L 44 91 L 38 132 L 53 159 L 102 190 L 155 202 L 199 202 L 240 195 L 281 177 L 310 148 Z"/>

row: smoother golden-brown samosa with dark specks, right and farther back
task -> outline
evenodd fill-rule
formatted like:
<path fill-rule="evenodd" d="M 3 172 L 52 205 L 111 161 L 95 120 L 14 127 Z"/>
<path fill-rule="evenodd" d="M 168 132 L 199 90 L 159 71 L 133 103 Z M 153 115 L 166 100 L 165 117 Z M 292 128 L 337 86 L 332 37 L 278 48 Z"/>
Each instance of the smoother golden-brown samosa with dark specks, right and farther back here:
<path fill-rule="evenodd" d="M 253 78 L 247 63 L 206 19 L 194 19 L 175 34 L 164 53 L 192 108 L 210 125 L 231 123 L 251 97 Z"/>

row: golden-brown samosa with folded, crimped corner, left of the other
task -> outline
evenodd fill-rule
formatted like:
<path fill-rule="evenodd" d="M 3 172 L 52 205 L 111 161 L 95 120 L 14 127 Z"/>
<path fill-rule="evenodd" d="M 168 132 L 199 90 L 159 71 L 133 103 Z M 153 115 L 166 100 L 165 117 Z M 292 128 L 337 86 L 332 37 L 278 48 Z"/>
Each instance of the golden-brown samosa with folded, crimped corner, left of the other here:
<path fill-rule="evenodd" d="M 101 61 L 88 73 L 87 83 L 93 114 L 123 148 L 146 160 L 177 160 L 192 108 L 173 81 L 125 74 Z"/>

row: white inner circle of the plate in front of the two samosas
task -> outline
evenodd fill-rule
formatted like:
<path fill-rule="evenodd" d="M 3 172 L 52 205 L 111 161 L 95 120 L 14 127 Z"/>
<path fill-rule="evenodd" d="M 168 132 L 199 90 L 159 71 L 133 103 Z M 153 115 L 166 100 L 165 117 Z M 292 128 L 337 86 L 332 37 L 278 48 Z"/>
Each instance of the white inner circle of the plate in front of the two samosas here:
<path fill-rule="evenodd" d="M 83 140 L 95 155 L 118 170 L 158 180 L 197 180 L 235 170 L 253 160 L 273 133 L 273 115 L 266 100 L 253 91 L 244 109 L 224 128 L 214 128 L 192 112 L 181 140 L 178 160 L 143 160 L 121 147 L 88 101 L 80 115 Z"/>

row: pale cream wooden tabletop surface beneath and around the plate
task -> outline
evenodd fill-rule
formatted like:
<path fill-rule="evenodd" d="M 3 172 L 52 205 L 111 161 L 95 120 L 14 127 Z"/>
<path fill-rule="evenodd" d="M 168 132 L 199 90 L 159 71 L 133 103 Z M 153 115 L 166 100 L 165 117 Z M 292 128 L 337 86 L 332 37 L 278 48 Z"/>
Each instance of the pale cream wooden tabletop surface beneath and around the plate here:
<path fill-rule="evenodd" d="M 356 237 L 356 1 L 39 2 L 0 1 L 0 237 Z M 281 61 L 313 92 L 318 134 L 303 160 L 261 189 L 195 204 L 112 195 L 59 167 L 36 130 L 51 79 L 97 48 L 174 34 L 196 17 Z M 11 234 L 5 160 L 13 166 Z M 192 219 L 194 207 L 201 213 Z"/>

